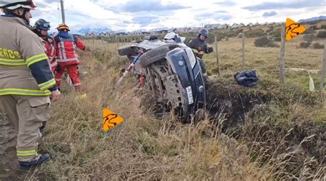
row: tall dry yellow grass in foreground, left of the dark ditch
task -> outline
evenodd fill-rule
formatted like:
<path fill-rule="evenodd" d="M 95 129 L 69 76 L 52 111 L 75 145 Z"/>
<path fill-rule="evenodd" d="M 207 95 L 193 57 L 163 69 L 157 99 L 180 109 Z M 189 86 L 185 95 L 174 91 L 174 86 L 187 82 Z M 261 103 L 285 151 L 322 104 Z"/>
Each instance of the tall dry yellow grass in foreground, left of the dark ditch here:
<path fill-rule="evenodd" d="M 101 41 L 87 41 L 91 52 L 82 55 L 87 99 L 65 89 L 53 104 L 41 149 L 54 159 L 31 179 L 78 180 L 265 180 L 268 168 L 250 162 L 248 148 L 206 119 L 183 125 L 173 116 L 156 120 L 142 109 L 142 92 L 133 78 L 112 89 L 126 65 L 116 50 Z M 105 52 L 105 53 L 104 53 Z M 103 54 L 104 53 L 104 54 Z M 112 56 L 110 56 L 112 55 Z M 102 131 L 102 108 L 125 118 Z M 232 142 L 229 142 L 232 140 Z"/>

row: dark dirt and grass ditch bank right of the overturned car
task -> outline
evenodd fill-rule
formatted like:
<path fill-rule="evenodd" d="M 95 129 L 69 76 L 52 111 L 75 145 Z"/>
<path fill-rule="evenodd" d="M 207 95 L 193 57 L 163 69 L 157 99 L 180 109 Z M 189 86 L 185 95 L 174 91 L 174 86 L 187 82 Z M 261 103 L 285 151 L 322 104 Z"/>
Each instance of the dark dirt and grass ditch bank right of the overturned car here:
<path fill-rule="evenodd" d="M 309 179 L 322 175 L 326 166 L 325 121 L 289 116 L 288 107 L 298 106 L 300 100 L 290 103 L 263 87 L 253 91 L 232 83 L 210 85 L 210 118 L 217 122 L 223 115 L 223 123 L 217 123 L 221 131 L 246 142 L 254 161 L 261 165 L 283 162 L 274 171 L 280 177 L 288 174 Z"/>

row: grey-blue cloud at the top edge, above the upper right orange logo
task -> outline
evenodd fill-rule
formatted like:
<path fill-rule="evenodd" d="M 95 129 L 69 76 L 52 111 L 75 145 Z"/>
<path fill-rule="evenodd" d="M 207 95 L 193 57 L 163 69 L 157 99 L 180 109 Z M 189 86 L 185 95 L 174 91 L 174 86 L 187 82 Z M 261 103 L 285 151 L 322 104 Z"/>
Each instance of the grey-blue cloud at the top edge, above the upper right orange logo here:
<path fill-rule="evenodd" d="M 308 7 L 316 7 L 323 6 L 323 1 L 294 1 L 290 3 L 274 3 L 274 2 L 265 2 L 259 3 L 254 6 L 246 6 L 243 9 L 250 11 L 257 10 L 277 10 L 277 9 L 285 9 L 285 8 L 308 8 Z"/>

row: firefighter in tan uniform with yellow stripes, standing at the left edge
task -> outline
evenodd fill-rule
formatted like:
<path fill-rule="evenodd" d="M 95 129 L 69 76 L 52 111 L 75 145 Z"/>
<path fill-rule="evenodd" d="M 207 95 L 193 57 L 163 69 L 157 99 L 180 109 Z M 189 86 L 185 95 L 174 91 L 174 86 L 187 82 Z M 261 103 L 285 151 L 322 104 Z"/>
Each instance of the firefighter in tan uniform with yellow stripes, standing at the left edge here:
<path fill-rule="evenodd" d="M 0 103 L 17 130 L 17 157 L 21 169 L 47 162 L 37 153 L 45 121 L 50 118 L 50 95 L 58 91 L 44 45 L 32 32 L 32 0 L 0 0 Z"/>

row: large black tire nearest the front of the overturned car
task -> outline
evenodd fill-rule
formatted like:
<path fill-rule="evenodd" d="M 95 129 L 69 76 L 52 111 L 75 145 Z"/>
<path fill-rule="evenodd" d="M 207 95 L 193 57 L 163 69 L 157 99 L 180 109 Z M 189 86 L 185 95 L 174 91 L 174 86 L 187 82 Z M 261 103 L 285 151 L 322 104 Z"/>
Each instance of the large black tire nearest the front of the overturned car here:
<path fill-rule="evenodd" d="M 162 46 L 149 50 L 149 52 L 145 52 L 139 57 L 139 63 L 142 67 L 149 67 L 152 63 L 165 58 L 167 52 L 170 52 L 169 46 Z"/>

